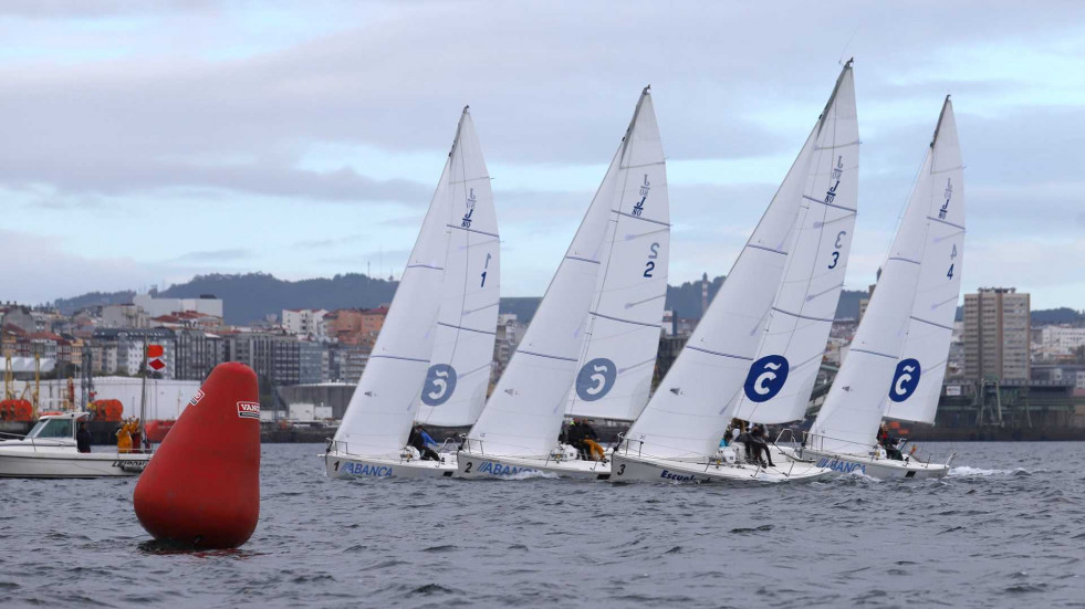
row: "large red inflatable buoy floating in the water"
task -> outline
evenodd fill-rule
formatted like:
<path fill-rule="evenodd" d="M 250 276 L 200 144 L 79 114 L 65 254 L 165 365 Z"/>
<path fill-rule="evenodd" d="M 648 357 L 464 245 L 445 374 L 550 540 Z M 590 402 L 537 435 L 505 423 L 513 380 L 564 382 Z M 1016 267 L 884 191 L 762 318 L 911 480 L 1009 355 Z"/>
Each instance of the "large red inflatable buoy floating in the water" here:
<path fill-rule="evenodd" d="M 260 517 L 257 374 L 220 364 L 136 483 L 136 517 L 156 539 L 195 548 L 249 540 Z"/>

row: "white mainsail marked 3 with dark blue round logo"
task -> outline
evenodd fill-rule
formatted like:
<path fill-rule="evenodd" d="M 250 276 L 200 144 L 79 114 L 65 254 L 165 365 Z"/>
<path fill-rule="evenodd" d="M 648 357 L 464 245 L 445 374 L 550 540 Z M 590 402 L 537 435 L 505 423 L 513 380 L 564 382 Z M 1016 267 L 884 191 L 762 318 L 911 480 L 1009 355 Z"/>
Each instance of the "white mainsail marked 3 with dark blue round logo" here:
<path fill-rule="evenodd" d="M 795 240 L 764 338 L 734 412 L 760 423 L 802 419 L 844 286 L 858 203 L 855 82 L 841 74 L 817 126 Z"/>

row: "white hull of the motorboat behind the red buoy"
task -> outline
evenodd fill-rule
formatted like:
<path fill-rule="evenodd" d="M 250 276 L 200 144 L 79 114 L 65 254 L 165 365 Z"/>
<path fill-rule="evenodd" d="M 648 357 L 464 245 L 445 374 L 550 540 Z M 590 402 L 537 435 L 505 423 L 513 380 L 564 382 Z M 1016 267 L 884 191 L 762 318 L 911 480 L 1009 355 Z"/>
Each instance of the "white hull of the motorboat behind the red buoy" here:
<path fill-rule="evenodd" d="M 0 477 L 106 477 L 143 473 L 149 454 L 0 448 Z"/>

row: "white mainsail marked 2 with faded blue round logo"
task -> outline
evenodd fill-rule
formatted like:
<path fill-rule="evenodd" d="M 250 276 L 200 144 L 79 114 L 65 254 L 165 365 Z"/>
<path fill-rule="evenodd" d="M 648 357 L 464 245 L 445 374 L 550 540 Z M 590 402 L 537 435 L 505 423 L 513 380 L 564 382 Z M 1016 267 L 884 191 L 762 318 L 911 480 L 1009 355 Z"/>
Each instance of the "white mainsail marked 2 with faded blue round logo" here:
<path fill-rule="evenodd" d="M 632 421 L 648 403 L 670 252 L 667 167 L 648 87 L 637 103 L 619 172 L 566 410 Z"/>

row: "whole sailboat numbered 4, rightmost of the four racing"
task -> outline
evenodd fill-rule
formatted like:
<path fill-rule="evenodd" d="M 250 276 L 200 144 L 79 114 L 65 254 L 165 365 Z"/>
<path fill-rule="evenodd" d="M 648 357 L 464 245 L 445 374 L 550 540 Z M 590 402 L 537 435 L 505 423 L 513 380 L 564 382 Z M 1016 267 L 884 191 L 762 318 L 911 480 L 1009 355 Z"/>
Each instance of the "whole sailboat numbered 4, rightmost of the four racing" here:
<path fill-rule="evenodd" d="M 805 447 L 796 451 L 803 458 L 873 477 L 949 472 L 948 462 L 885 458 L 876 434 L 883 417 L 935 420 L 960 297 L 963 176 L 947 96 L 870 304 Z"/>

